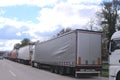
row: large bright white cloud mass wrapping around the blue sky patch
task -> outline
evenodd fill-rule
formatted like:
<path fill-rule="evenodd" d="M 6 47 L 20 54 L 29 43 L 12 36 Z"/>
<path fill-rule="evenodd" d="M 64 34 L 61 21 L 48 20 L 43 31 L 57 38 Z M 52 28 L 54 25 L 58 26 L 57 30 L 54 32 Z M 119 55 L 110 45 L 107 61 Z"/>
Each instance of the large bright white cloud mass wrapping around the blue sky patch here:
<path fill-rule="evenodd" d="M 40 15 L 37 17 L 39 23 L 37 24 L 18 22 L 17 20 L 10 19 L 1 21 L 5 21 L 10 25 L 12 24 L 12 26 L 15 27 L 21 27 L 21 25 L 29 26 L 31 27 L 30 30 L 33 32 L 54 31 L 58 28 L 58 25 L 63 27 L 70 27 L 73 25 L 84 26 L 88 20 L 94 16 L 99 8 L 98 4 L 100 2 L 101 0 L 1 0 L 0 4 L 3 6 L 36 5 L 41 7 L 39 11 Z M 49 7 L 51 5 L 52 8 Z M 34 27 L 39 29 L 34 29 Z"/>

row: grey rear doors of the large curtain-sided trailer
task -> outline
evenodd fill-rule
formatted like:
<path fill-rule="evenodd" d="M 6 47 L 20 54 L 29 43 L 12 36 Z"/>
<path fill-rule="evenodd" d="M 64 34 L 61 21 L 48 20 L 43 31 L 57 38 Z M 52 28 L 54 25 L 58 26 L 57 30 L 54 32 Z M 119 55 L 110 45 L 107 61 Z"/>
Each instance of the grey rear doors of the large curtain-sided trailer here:
<path fill-rule="evenodd" d="M 77 65 L 101 63 L 101 35 L 95 32 L 78 32 Z"/>

